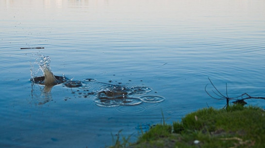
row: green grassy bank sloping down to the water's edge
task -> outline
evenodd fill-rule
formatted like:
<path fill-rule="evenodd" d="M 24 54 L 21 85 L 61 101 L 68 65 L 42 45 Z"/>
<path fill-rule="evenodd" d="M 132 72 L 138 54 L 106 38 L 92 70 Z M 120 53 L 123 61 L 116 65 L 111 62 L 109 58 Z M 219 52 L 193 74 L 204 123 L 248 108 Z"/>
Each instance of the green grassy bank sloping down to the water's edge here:
<path fill-rule="evenodd" d="M 122 139 L 110 148 L 265 148 L 265 112 L 241 105 L 206 108 L 173 125 L 158 124 L 136 143 Z"/>

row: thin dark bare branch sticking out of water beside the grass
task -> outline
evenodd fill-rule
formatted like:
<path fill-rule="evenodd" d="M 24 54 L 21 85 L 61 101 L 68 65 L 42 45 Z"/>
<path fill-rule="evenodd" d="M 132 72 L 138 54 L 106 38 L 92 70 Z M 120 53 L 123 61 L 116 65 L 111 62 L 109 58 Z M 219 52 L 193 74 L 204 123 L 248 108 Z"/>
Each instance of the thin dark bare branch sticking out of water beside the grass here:
<path fill-rule="evenodd" d="M 245 101 L 245 99 L 265 99 L 265 97 L 252 97 L 250 95 L 248 95 L 247 93 L 244 93 L 240 96 L 237 96 L 237 97 L 228 97 L 228 93 L 227 93 L 227 83 L 226 83 L 226 96 L 223 95 L 214 85 L 214 83 L 211 81 L 210 78 L 208 78 L 209 81 L 211 82 L 211 85 L 214 87 L 214 89 L 212 90 L 212 92 L 217 96 L 217 97 L 214 97 L 213 95 L 211 95 L 207 90 L 206 90 L 206 87 L 208 86 L 208 84 L 206 84 L 204 90 L 205 92 L 213 99 L 217 99 L 217 100 L 223 100 L 225 99 L 226 100 L 226 105 L 224 107 L 228 107 L 229 106 L 229 101 L 230 100 L 235 100 L 233 101 L 234 104 L 242 104 L 242 105 L 245 105 L 247 104 L 247 102 Z"/>

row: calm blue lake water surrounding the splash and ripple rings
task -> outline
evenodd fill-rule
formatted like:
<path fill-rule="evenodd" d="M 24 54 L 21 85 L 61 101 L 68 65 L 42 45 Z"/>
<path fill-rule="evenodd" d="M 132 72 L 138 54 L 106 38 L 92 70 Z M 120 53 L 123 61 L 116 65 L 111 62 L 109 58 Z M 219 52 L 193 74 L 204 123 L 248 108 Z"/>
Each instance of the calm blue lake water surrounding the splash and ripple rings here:
<path fill-rule="evenodd" d="M 85 87 L 33 84 L 47 56 Z M 264 0 L 0 0 L 0 147 L 104 148 L 119 130 L 133 142 L 162 112 L 172 124 L 224 107 L 208 77 L 229 97 L 265 97 L 264 59 Z M 121 85 L 165 100 L 105 107 L 87 94 Z"/>

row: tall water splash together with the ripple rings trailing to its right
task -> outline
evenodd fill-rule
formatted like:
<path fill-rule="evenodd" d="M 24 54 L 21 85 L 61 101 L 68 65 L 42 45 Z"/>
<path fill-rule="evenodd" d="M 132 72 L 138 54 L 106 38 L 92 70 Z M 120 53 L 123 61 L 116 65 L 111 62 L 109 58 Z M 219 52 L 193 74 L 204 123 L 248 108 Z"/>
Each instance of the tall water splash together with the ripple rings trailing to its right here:
<path fill-rule="evenodd" d="M 89 98 L 89 95 L 95 96 L 95 104 L 103 107 L 134 106 L 143 102 L 161 102 L 165 99 L 160 96 L 139 97 L 140 95 L 144 95 L 152 91 L 151 88 L 146 86 L 129 87 L 127 85 L 116 85 L 105 82 L 97 82 L 96 79 L 92 78 L 83 79 L 83 81 L 74 81 L 74 78 L 68 79 L 64 75 L 55 76 L 50 68 L 49 56 L 37 55 L 34 64 L 38 65 L 38 69 L 34 70 L 34 66 L 31 65 L 31 81 L 33 82 L 33 84 L 45 85 L 42 91 L 45 95 L 45 103 L 51 100 L 50 91 L 52 87 L 60 83 L 64 83 L 64 86 L 66 87 L 79 88 L 83 91 L 86 91 L 77 91 L 77 94 L 83 95 L 83 98 Z M 40 72 L 42 73 L 42 76 L 36 76 Z M 91 83 L 104 85 L 99 85 L 99 90 L 92 89 L 92 91 L 89 91 L 88 88 L 91 88 Z M 72 91 L 72 93 L 75 92 Z M 137 97 L 135 98 L 135 96 Z"/>

